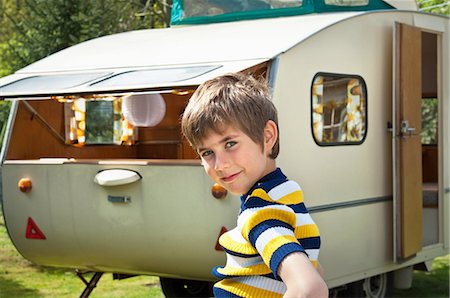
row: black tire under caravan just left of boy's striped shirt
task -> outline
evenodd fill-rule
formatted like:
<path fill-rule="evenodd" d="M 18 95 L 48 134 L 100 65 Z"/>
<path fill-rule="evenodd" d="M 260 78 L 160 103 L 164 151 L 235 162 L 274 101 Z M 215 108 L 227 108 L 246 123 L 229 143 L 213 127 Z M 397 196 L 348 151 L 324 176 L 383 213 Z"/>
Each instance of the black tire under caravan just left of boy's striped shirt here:
<path fill-rule="evenodd" d="M 161 289 L 166 297 L 212 297 L 213 283 L 200 280 L 160 277 Z"/>

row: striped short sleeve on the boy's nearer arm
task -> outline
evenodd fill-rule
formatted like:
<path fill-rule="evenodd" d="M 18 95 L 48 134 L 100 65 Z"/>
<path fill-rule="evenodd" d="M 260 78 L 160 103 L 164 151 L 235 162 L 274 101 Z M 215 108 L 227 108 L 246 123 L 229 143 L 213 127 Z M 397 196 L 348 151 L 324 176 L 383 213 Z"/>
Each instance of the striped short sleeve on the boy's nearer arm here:
<path fill-rule="evenodd" d="M 294 234 L 295 212 L 285 205 L 260 204 L 260 198 L 251 197 L 249 205 L 261 207 L 244 210 L 238 219 L 242 236 L 256 248 L 267 266 L 278 278 L 278 268 L 283 259 L 293 252 L 305 252 Z M 264 206 L 265 205 L 265 206 Z"/>

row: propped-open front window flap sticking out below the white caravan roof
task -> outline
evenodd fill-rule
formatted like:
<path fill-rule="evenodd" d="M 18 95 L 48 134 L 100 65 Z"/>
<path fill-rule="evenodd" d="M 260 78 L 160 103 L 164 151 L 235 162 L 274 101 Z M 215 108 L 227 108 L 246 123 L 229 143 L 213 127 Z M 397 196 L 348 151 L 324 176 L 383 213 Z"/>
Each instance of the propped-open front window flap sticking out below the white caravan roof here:
<path fill-rule="evenodd" d="M 215 76 L 241 71 L 265 59 L 176 67 L 116 69 L 103 72 L 14 74 L 0 79 L 2 99 L 40 99 L 58 95 L 138 92 L 195 86 Z"/>

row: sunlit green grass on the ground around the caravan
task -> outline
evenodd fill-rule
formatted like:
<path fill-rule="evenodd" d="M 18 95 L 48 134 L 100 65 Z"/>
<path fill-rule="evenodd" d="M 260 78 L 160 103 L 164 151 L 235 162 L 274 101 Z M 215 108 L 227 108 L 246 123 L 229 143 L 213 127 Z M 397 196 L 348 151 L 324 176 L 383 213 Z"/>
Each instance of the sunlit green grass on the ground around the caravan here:
<path fill-rule="evenodd" d="M 449 297 L 449 262 L 450 255 L 439 257 L 434 260 L 432 271 L 415 271 L 412 288 L 395 290 L 394 297 Z M 25 260 L 7 235 L 0 209 L 0 298 L 78 297 L 84 287 L 73 270 L 42 267 Z M 164 296 L 157 277 L 119 281 L 105 274 L 90 297 Z"/>

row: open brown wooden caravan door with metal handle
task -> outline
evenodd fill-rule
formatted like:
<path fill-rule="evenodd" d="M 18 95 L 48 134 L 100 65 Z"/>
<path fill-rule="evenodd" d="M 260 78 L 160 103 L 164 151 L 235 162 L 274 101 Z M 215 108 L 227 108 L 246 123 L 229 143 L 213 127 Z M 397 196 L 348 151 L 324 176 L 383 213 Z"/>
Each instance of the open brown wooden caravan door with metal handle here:
<path fill-rule="evenodd" d="M 395 24 L 394 260 L 422 249 L 421 30 Z"/>

